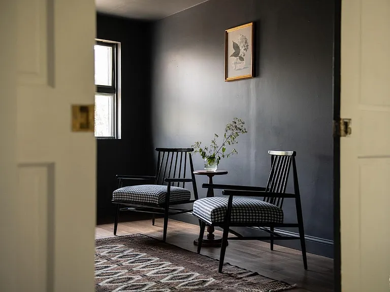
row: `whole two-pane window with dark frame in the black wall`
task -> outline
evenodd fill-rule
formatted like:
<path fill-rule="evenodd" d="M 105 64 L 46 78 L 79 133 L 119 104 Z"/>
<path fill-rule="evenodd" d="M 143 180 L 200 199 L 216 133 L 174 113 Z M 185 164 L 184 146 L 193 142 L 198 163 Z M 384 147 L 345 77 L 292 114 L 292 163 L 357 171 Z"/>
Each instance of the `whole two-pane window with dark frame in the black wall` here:
<path fill-rule="evenodd" d="M 118 43 L 96 41 L 95 137 L 119 138 Z"/>

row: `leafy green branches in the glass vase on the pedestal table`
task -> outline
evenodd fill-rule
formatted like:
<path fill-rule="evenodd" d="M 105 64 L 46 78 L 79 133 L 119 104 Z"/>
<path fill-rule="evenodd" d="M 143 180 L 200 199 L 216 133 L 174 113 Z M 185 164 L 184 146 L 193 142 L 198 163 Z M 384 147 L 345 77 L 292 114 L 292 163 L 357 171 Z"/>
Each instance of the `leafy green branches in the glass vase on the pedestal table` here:
<path fill-rule="evenodd" d="M 234 154 L 238 154 L 235 148 L 226 152 L 226 146 L 237 144 L 237 138 L 240 136 L 240 134 L 247 133 L 244 125 L 245 122 L 243 120 L 234 118 L 232 122 L 226 124 L 222 144 L 220 146 L 217 143 L 217 138 L 219 138 L 219 136 L 214 134 L 214 138 L 211 140 L 209 147 L 202 147 L 202 142 L 200 141 L 197 141 L 191 145 L 191 147 L 194 149 L 193 153 L 199 153 L 203 159 L 207 159 L 208 164 L 219 164 L 219 160 L 221 158 L 228 158 Z"/>

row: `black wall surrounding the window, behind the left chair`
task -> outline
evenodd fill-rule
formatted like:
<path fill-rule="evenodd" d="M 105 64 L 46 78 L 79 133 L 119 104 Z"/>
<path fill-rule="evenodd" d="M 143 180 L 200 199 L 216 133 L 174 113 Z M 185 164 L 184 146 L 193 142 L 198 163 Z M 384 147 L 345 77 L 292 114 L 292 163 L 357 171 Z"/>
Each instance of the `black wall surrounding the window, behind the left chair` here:
<path fill-rule="evenodd" d="M 149 22 L 97 15 L 96 38 L 121 43 L 121 139 L 97 139 L 97 222 L 113 222 L 116 174 L 153 174 Z M 152 163 L 152 164 L 151 164 Z M 139 214 L 139 213 L 138 213 Z M 123 217 L 123 216 L 122 216 Z"/>

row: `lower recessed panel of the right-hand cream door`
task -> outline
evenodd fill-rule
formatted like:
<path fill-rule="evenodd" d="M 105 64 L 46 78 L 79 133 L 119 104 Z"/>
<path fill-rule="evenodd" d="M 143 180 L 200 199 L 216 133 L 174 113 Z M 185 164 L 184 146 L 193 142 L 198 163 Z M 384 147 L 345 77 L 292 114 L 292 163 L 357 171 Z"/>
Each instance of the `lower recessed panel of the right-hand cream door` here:
<path fill-rule="evenodd" d="M 389 178 L 390 159 L 360 160 L 362 291 L 389 290 Z"/>

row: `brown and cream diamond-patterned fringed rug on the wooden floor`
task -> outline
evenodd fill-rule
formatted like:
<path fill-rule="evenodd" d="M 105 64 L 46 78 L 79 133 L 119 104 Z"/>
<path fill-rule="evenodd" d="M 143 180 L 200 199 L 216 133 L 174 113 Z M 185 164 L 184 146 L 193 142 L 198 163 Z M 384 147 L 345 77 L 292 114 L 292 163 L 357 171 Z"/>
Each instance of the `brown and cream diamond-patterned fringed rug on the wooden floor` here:
<path fill-rule="evenodd" d="M 258 291 L 294 288 L 285 282 L 145 235 L 96 239 L 95 291 Z"/>

